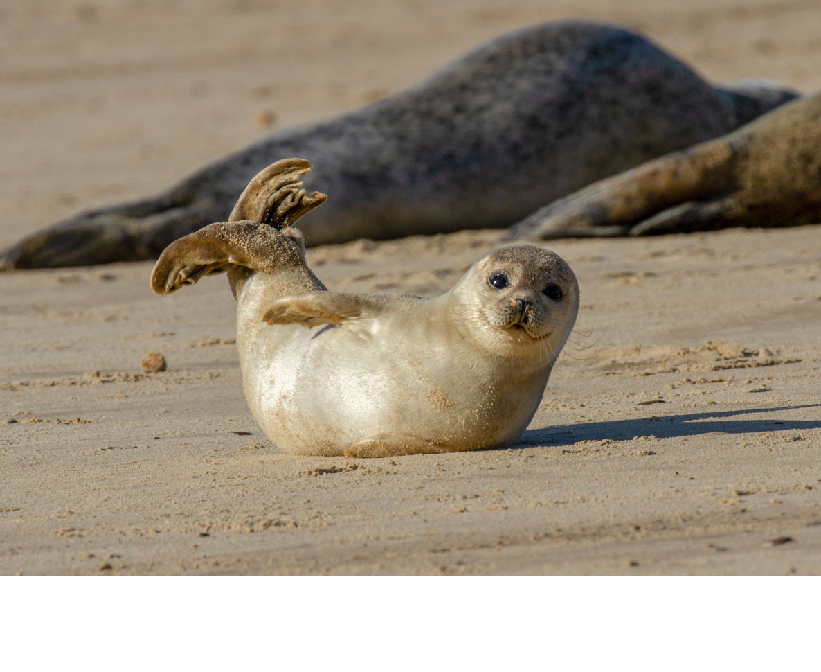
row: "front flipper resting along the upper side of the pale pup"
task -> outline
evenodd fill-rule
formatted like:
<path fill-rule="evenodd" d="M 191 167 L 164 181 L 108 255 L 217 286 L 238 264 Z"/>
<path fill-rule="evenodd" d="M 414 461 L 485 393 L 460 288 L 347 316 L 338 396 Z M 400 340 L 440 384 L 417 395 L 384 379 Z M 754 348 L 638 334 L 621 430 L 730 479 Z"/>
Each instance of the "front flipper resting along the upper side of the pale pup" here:
<path fill-rule="evenodd" d="M 308 292 L 274 301 L 265 312 L 268 324 L 337 324 L 346 329 L 357 329 L 361 320 L 380 315 L 392 297 L 380 294 L 352 294 L 347 292 Z"/>

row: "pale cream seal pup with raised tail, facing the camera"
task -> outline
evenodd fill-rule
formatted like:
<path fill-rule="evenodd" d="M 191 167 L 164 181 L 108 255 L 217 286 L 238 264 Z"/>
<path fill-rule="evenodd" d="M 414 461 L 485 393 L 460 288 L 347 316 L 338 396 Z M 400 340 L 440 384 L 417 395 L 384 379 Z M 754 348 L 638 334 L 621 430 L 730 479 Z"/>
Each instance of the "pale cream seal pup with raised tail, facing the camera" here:
<path fill-rule="evenodd" d="M 302 159 L 265 168 L 227 223 L 163 251 L 154 292 L 227 271 L 245 398 L 288 453 L 385 457 L 518 439 L 576 321 L 570 266 L 515 244 L 440 297 L 328 292 L 292 228 L 325 200 L 302 188 L 309 169 Z"/>

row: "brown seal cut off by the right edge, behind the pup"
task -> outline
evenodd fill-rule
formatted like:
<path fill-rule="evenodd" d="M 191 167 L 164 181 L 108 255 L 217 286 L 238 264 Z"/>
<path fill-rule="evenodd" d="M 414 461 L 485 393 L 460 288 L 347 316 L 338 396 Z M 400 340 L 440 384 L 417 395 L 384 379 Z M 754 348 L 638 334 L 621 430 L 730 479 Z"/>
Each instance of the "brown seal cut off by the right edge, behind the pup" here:
<path fill-rule="evenodd" d="M 641 236 L 821 222 L 821 94 L 596 182 L 511 237 Z"/>

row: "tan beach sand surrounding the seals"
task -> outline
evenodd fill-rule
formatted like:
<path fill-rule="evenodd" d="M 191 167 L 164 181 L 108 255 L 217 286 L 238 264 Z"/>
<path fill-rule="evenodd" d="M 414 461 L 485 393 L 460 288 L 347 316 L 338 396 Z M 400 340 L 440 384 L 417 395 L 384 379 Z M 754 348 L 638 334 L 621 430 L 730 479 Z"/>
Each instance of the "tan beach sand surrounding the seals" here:
<path fill-rule="evenodd" d="M 566 17 L 715 81 L 821 88 L 816 0 L 31 0 L 0 8 L 0 246 Z M 310 262 L 433 295 L 500 233 Z M 265 440 L 224 278 L 161 299 L 148 263 L 0 276 L 0 572 L 821 572 L 821 227 L 551 247 L 582 307 L 521 442 L 370 461 Z"/>

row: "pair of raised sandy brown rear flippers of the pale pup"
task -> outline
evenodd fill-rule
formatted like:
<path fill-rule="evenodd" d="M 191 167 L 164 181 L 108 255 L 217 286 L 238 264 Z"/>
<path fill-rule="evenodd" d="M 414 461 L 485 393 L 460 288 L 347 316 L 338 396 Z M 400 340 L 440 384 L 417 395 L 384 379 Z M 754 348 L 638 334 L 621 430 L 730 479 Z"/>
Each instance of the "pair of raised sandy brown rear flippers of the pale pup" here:
<path fill-rule="evenodd" d="M 302 234 L 290 227 L 326 198 L 318 191 L 305 193 L 300 177 L 309 170 L 305 159 L 283 159 L 260 171 L 227 223 L 209 224 L 167 246 L 151 274 L 154 292 L 173 292 L 231 266 L 273 272 L 304 265 Z"/>

